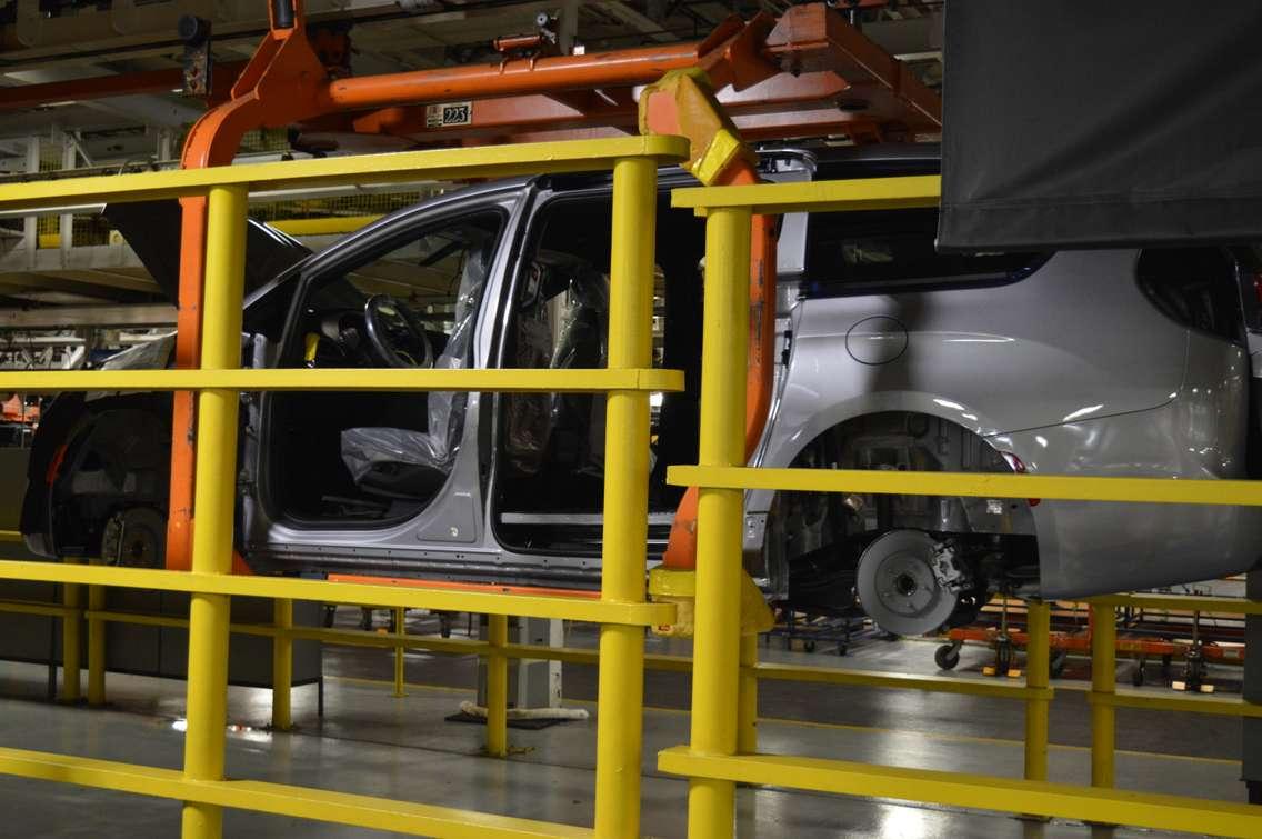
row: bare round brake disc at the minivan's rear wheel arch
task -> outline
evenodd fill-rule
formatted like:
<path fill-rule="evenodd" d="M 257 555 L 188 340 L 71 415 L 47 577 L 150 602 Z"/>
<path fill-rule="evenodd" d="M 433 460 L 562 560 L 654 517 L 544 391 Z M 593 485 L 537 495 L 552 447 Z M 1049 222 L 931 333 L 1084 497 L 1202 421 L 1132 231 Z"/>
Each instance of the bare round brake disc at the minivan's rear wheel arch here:
<path fill-rule="evenodd" d="M 859 556 L 856 590 L 868 617 L 897 635 L 933 632 L 959 601 L 934 575 L 934 540 L 920 530 L 877 536 Z"/>

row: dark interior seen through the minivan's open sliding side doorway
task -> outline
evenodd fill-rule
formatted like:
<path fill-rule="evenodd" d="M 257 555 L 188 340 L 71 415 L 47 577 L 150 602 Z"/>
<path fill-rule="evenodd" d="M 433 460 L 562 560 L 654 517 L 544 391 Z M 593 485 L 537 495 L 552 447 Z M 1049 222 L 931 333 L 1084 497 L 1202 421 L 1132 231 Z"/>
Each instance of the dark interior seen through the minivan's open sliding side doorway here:
<path fill-rule="evenodd" d="M 608 196 L 559 198 L 536 217 L 514 286 L 501 348 L 505 367 L 591 368 L 607 363 Z M 654 395 L 650 541 L 664 544 L 681 495 L 666 466 L 697 457 L 703 222 L 658 208 L 654 365 L 684 370 L 688 390 Z M 603 503 L 604 397 L 510 394 L 497 400 L 495 521 L 519 550 L 597 549 Z"/>

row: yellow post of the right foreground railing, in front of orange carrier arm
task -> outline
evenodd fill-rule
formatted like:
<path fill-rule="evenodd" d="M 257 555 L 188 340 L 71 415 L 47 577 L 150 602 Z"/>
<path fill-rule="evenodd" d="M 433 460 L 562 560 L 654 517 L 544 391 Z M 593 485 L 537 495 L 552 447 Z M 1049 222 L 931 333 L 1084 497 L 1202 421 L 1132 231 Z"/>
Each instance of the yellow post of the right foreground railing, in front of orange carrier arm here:
<path fill-rule="evenodd" d="M 748 347 L 748 208 L 711 209 L 705 220 L 700 466 L 745 464 L 745 358 Z M 697 508 L 697 612 L 693 638 L 694 753 L 732 754 L 741 647 L 741 490 L 700 490 Z M 732 835 L 736 785 L 688 782 L 688 835 Z"/>

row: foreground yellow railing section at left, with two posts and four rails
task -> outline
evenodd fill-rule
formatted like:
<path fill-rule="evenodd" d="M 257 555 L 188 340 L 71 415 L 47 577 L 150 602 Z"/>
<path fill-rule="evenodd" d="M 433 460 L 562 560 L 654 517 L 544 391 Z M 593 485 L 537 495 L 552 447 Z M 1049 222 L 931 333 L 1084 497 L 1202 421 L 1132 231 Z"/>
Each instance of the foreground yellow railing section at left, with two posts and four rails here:
<path fill-rule="evenodd" d="M 591 835 L 593 830 L 601 836 L 637 835 L 644 627 L 674 619 L 673 606 L 645 602 L 649 394 L 683 389 L 683 373 L 651 370 L 656 177 L 661 163 L 680 160 L 687 154 L 688 144 L 681 138 L 622 138 L 77 178 L 0 189 L 0 209 L 33 213 L 74 202 L 187 196 L 208 199 L 201 370 L 0 373 L 0 390 L 13 391 L 199 391 L 197 519 L 191 572 L 0 560 L 0 579 L 63 584 L 64 606 L 72 611 L 82 606 L 83 585 L 90 587 L 93 608 L 100 606 L 100 589 L 106 587 L 191 594 L 183 771 L 0 747 L 0 772 L 182 800 L 184 836 L 221 835 L 226 806 L 418 835 L 557 836 Z M 607 370 L 237 370 L 250 189 L 610 169 L 613 172 L 613 225 Z M 232 575 L 239 394 L 284 389 L 607 392 L 601 598 Z M 275 636 L 276 664 L 283 681 L 288 680 L 288 674 L 279 671 L 285 666 L 286 647 L 297 632 L 284 627 L 292 623 L 289 608 L 295 599 L 490 616 L 488 688 L 492 695 L 488 704 L 498 710 L 492 710 L 488 719 L 487 743 L 488 751 L 497 756 L 505 754 L 507 748 L 504 719 L 507 616 L 601 623 L 599 661 L 603 666 L 598 683 L 594 828 L 261 781 L 225 780 L 228 598 L 232 596 L 276 601 L 275 619 L 281 627 Z M 100 612 L 95 619 L 101 623 Z M 93 656 L 100 656 L 102 648 L 90 647 L 90 659 L 100 661 Z M 76 642 L 74 655 L 77 650 Z M 78 664 L 77 660 L 66 661 L 67 672 L 73 669 L 76 674 L 76 683 Z"/>

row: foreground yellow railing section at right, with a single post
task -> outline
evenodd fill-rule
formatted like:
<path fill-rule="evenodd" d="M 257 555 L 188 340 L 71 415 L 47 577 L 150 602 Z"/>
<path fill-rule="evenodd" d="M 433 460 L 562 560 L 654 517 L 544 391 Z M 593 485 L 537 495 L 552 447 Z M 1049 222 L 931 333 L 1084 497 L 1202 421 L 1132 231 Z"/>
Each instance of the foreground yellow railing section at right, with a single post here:
<path fill-rule="evenodd" d="M 751 645 L 748 640 L 742 642 L 738 611 L 743 573 L 742 498 L 746 490 L 1262 505 L 1262 483 L 1248 481 L 747 468 L 743 449 L 743 360 L 748 341 L 746 286 L 752 214 L 933 207 L 939 201 L 939 187 L 936 177 L 906 177 L 709 187 L 676 189 L 673 193 L 675 207 L 692 207 L 705 217 L 698 466 L 673 467 L 668 472 L 668 481 L 674 484 L 700 487 L 692 733 L 688 746 L 665 749 L 658 758 L 658 766 L 664 772 L 689 778 L 689 836 L 712 839 L 732 835 L 736 783 L 766 783 L 1157 829 L 1262 835 L 1262 810 L 1248 805 L 1121 792 L 1045 780 L 760 754 L 755 751 L 752 734 L 742 720 L 753 704 L 750 696 L 753 680 L 741 678 L 742 657 L 748 665 Z M 1031 660 L 1026 667 L 1030 686 L 1035 686 L 1036 678 L 1047 678 L 1047 607 L 1036 604 L 1034 611 L 1039 619 L 1031 627 L 1035 638 L 1031 640 Z M 1113 627 L 1112 621 L 1103 623 Z M 1099 627 L 1100 622 L 1097 623 L 1097 632 Z M 1107 630 L 1099 635 L 1111 636 Z M 1112 645 L 1111 638 L 1108 643 Z M 1107 676 L 1111 684 L 1112 671 Z M 1100 681 L 1095 690 L 1103 693 Z M 1112 713 L 1112 705 L 1100 701 L 1093 708 L 1108 708 Z M 1102 719 L 1098 713 L 1097 723 Z M 1045 701 L 1031 703 L 1026 724 L 1027 737 L 1046 742 Z M 1027 752 L 1026 758 L 1029 772 L 1030 761 L 1037 761 L 1039 756 L 1031 758 Z"/>

